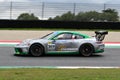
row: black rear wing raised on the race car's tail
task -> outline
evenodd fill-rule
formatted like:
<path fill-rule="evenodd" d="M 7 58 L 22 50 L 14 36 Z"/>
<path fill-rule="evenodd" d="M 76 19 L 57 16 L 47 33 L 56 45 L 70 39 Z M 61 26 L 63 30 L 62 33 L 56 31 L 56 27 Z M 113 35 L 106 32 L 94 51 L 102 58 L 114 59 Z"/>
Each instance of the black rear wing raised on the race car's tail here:
<path fill-rule="evenodd" d="M 108 34 L 108 31 L 95 31 L 95 38 L 97 41 L 103 41 L 105 38 L 105 35 Z"/>

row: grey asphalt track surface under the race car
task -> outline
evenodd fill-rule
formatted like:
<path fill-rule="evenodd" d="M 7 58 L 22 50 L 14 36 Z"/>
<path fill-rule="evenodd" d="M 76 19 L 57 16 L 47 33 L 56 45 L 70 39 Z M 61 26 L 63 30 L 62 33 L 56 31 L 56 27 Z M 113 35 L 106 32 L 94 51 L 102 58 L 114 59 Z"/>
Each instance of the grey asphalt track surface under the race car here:
<path fill-rule="evenodd" d="M 13 47 L 0 47 L 0 66 L 120 66 L 119 48 L 107 48 L 104 53 L 92 57 L 78 55 L 31 57 L 14 56 L 13 54 Z"/>

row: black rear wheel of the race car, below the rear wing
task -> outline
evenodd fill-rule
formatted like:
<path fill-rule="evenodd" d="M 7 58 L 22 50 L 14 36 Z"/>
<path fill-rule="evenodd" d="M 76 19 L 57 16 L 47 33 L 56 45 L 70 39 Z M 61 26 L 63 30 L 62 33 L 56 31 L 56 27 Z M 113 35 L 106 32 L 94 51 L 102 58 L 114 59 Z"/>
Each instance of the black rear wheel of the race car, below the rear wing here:
<path fill-rule="evenodd" d="M 92 55 L 94 47 L 91 44 L 83 44 L 80 46 L 79 53 L 84 57 L 89 57 Z"/>

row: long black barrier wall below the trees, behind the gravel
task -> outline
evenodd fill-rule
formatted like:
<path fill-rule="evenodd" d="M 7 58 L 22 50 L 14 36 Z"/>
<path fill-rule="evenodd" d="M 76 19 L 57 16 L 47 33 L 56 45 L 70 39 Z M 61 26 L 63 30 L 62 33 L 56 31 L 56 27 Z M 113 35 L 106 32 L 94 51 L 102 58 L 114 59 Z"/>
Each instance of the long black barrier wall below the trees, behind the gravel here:
<path fill-rule="evenodd" d="M 120 29 L 120 22 L 0 20 L 0 28 Z"/>

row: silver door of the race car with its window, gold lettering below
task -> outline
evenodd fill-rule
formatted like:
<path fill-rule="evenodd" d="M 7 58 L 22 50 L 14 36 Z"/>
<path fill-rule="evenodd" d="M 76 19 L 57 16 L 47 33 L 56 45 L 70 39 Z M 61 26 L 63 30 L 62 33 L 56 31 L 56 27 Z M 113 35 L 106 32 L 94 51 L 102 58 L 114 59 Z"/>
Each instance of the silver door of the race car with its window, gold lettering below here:
<path fill-rule="evenodd" d="M 74 40 L 72 39 L 72 33 L 62 33 L 55 37 L 55 51 L 68 52 L 75 51 L 76 46 L 74 45 Z"/>

